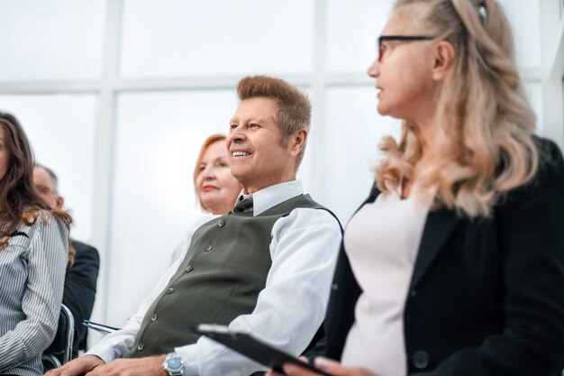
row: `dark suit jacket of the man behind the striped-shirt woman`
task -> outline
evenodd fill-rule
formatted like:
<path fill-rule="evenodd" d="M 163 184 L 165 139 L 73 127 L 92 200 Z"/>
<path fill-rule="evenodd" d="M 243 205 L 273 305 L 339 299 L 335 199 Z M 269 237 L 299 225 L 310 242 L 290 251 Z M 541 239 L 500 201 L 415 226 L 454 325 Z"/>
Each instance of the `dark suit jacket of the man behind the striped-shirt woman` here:
<path fill-rule="evenodd" d="M 78 350 L 86 349 L 86 326 L 82 321 L 90 318 L 94 307 L 100 256 L 96 248 L 88 244 L 73 240 L 72 246 L 77 254 L 74 265 L 67 269 L 63 304 L 75 318 L 73 352 L 76 356 Z"/>

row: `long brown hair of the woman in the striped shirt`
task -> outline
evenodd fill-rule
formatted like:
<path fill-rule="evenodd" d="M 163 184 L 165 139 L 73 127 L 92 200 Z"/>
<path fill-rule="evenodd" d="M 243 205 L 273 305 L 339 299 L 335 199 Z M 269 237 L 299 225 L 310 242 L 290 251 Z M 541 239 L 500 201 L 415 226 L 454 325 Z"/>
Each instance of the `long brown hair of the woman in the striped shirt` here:
<path fill-rule="evenodd" d="M 72 217 L 60 209 L 50 209 L 33 188 L 33 152 L 23 127 L 14 115 L 0 112 L 0 126 L 4 129 L 4 143 L 8 151 L 8 167 L 0 179 L 0 250 L 8 244 L 10 234 L 23 222 L 32 225 L 45 220 L 41 211 L 51 212 L 66 225 Z M 1 252 L 1 251 L 0 251 Z M 69 252 L 69 262 L 74 253 Z"/>

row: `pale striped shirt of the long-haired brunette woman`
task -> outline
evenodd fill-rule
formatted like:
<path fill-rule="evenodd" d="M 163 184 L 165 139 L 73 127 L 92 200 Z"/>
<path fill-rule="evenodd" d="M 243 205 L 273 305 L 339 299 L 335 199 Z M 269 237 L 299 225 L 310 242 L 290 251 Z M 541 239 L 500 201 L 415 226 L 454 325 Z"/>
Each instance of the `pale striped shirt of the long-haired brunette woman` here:
<path fill-rule="evenodd" d="M 20 222 L 0 249 L 0 373 L 43 374 L 41 353 L 59 322 L 67 270 L 68 226 L 39 212 Z"/>

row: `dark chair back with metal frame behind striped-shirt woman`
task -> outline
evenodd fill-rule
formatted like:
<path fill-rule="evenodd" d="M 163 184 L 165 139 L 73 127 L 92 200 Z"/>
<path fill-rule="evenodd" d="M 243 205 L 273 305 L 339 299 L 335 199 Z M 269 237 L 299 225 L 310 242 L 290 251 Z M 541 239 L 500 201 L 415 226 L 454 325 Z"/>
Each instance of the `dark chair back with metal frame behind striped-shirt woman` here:
<path fill-rule="evenodd" d="M 50 346 L 41 355 L 44 371 L 60 367 L 72 358 L 75 319 L 64 304 L 60 305 L 59 326 Z"/>

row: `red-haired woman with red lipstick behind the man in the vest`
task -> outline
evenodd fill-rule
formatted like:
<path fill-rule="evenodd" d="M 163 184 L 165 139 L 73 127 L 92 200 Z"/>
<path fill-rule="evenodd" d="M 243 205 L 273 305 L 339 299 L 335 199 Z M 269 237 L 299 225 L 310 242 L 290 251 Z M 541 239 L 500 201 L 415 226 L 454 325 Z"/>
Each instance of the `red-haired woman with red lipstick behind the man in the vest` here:
<path fill-rule="evenodd" d="M 241 184 L 231 174 L 226 140 L 221 133 L 206 138 L 194 168 L 194 189 L 200 207 L 213 215 L 229 213 L 241 193 Z M 172 253 L 171 262 L 176 261 L 184 250 L 184 244 L 179 244 Z"/>

